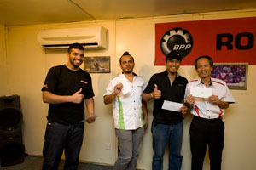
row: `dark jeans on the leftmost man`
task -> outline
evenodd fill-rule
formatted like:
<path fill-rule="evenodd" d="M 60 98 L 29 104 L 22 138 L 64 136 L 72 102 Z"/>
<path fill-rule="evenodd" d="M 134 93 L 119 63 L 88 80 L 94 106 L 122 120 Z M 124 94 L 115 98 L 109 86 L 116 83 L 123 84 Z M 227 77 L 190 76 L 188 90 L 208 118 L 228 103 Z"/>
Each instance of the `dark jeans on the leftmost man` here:
<path fill-rule="evenodd" d="M 84 122 L 62 125 L 48 122 L 44 136 L 43 170 L 57 170 L 65 149 L 65 170 L 75 170 L 79 165 L 79 153 L 84 137 Z"/>

